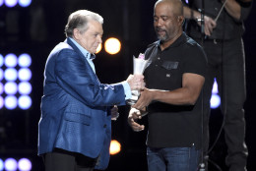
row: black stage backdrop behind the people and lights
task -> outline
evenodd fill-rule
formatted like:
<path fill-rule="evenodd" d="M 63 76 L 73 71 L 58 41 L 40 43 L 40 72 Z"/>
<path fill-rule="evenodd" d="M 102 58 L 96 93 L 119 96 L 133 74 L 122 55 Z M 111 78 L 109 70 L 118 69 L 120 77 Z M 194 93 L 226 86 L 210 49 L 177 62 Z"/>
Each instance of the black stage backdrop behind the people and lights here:
<path fill-rule="evenodd" d="M 153 8 L 156 0 L 32 0 L 28 8 L 0 7 L 0 53 L 30 53 L 32 55 L 32 108 L 27 111 L 0 109 L 0 157 L 29 157 L 32 170 L 42 171 L 41 158 L 36 156 L 37 123 L 40 117 L 43 69 L 50 50 L 65 39 L 64 27 L 70 13 L 88 9 L 104 18 L 103 41 L 109 36 L 122 42 L 121 52 L 110 56 L 101 50 L 96 55 L 96 74 L 101 83 L 113 84 L 132 73 L 132 55 L 144 52 L 156 40 L 153 28 Z M 245 102 L 246 142 L 249 148 L 248 171 L 256 169 L 255 103 L 256 103 L 256 5 L 245 23 L 247 100 Z M 10 17 L 11 16 L 11 17 Z M 146 171 L 146 132 L 134 133 L 127 124 L 128 107 L 119 107 L 120 117 L 112 123 L 112 138 L 121 142 L 121 152 L 111 156 L 111 171 Z M 140 121 L 146 124 L 147 118 Z M 220 109 L 212 111 L 211 143 L 215 142 L 223 122 Z M 216 165 L 226 170 L 224 136 L 210 153 L 210 170 Z"/>

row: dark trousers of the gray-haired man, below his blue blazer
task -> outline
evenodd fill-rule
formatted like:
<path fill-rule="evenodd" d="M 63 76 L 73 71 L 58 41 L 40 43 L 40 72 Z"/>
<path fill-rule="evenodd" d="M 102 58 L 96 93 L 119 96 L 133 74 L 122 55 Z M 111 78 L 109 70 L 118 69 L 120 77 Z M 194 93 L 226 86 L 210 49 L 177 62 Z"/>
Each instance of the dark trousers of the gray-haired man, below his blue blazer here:
<path fill-rule="evenodd" d="M 45 171 L 93 171 L 96 159 L 63 149 L 43 155 Z"/>

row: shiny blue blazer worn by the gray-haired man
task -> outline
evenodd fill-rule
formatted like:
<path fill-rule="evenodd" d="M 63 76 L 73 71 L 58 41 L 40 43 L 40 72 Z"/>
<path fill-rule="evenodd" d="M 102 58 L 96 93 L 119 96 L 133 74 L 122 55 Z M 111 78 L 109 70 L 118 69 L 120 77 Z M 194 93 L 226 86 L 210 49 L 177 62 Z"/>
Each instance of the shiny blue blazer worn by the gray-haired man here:
<path fill-rule="evenodd" d="M 67 38 L 48 56 L 44 70 L 38 154 L 54 147 L 109 161 L 111 116 L 107 106 L 124 105 L 123 85 L 102 85 L 85 56 Z"/>

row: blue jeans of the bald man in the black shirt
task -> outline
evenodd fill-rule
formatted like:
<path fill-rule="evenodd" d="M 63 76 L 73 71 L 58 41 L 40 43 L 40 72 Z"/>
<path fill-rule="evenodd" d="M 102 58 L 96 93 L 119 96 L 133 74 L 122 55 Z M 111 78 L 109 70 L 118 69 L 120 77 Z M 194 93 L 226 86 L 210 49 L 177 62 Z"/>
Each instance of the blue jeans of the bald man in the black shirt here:
<path fill-rule="evenodd" d="M 200 150 L 195 147 L 149 147 L 147 159 L 149 171 L 196 171 Z"/>

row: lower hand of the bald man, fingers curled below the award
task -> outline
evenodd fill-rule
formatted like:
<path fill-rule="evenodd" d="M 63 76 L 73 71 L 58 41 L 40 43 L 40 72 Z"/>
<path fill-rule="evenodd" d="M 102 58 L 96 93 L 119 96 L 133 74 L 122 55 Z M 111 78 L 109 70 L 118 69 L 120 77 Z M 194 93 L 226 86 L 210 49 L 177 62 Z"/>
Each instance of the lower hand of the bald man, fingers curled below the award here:
<path fill-rule="evenodd" d="M 141 119 L 142 115 L 140 110 L 137 110 L 135 108 L 131 108 L 129 115 L 128 115 L 128 124 L 135 132 L 140 132 L 145 129 L 144 125 L 140 125 L 137 122 L 135 122 L 138 119 Z"/>

